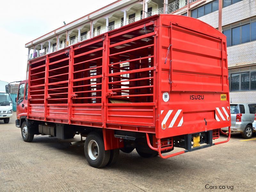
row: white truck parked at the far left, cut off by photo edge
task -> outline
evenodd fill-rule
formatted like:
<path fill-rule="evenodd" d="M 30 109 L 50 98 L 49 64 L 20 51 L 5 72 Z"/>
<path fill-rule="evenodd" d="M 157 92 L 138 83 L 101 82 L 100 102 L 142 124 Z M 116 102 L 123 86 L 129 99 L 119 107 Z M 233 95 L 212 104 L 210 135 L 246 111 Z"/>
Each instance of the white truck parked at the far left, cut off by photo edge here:
<path fill-rule="evenodd" d="M 12 99 L 9 93 L 6 93 L 5 85 L 8 85 L 5 81 L 0 81 L 0 120 L 4 120 L 4 123 L 9 123 L 10 117 L 12 117 Z"/>

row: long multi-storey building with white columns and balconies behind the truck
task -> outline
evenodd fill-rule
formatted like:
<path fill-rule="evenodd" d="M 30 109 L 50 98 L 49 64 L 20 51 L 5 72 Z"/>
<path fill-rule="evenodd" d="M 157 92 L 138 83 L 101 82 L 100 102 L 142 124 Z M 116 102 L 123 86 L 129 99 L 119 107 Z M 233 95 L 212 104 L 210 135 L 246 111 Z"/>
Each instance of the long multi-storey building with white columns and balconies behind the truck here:
<path fill-rule="evenodd" d="M 155 14 L 180 14 L 227 36 L 230 98 L 256 101 L 255 0 L 118 0 L 25 45 L 28 60 Z"/>

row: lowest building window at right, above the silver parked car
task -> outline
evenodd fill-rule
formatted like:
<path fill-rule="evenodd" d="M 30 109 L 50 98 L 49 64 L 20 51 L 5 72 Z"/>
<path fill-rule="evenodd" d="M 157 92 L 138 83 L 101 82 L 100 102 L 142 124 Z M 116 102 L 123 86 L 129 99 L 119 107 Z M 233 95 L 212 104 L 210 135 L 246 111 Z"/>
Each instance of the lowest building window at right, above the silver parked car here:
<path fill-rule="evenodd" d="M 255 67 L 248 68 L 249 71 L 231 73 L 228 76 L 229 91 L 255 91 L 256 90 L 256 70 Z M 241 68 L 242 69 L 242 68 Z M 239 70 L 238 70 L 239 71 Z"/>

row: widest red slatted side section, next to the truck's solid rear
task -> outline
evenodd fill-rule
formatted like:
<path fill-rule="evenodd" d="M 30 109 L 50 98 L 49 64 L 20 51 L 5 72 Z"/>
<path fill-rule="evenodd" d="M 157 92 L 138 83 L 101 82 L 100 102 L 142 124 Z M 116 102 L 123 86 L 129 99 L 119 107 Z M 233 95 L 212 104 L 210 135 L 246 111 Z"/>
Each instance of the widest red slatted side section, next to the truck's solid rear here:
<path fill-rule="evenodd" d="M 107 127 L 155 126 L 154 25 L 156 21 L 109 36 Z"/>

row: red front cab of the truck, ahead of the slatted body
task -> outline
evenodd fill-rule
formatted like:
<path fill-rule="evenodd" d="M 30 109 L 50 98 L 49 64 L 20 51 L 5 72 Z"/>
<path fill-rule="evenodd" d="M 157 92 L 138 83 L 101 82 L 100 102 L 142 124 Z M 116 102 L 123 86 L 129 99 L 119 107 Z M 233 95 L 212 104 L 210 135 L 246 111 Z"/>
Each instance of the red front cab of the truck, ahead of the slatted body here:
<path fill-rule="evenodd" d="M 17 95 L 17 120 L 16 127 L 20 127 L 22 122 L 27 119 L 28 115 L 28 80 L 20 82 L 19 92 Z"/>

